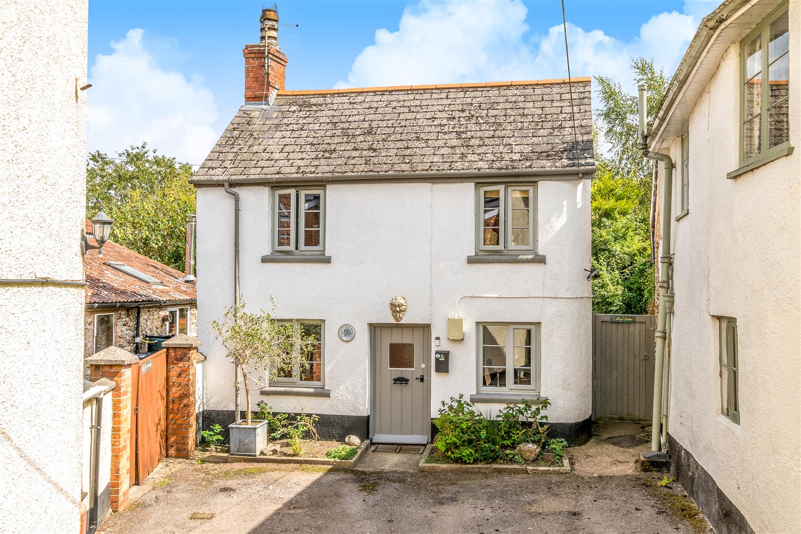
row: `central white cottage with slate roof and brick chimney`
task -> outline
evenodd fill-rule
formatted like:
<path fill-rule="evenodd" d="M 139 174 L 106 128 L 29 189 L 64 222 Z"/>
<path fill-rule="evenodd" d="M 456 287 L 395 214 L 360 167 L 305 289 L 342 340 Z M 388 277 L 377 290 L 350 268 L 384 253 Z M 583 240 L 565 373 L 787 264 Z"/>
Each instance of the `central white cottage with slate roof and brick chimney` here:
<path fill-rule="evenodd" d="M 546 397 L 552 436 L 589 437 L 590 79 L 284 90 L 276 11 L 261 21 L 245 105 L 192 179 L 204 424 L 234 420 L 210 323 L 237 250 L 248 307 L 272 297 L 320 336 L 250 409 L 415 442 L 452 396 Z"/>

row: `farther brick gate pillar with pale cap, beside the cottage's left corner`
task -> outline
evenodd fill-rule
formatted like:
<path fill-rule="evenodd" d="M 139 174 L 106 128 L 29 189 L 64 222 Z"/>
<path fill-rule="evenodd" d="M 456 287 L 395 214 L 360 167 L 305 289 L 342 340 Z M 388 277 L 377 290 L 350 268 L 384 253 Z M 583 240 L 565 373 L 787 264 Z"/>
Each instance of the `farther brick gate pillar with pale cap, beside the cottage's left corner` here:
<path fill-rule="evenodd" d="M 195 454 L 195 363 L 200 342 L 186 334 L 161 345 L 167 349 L 167 456 Z"/>

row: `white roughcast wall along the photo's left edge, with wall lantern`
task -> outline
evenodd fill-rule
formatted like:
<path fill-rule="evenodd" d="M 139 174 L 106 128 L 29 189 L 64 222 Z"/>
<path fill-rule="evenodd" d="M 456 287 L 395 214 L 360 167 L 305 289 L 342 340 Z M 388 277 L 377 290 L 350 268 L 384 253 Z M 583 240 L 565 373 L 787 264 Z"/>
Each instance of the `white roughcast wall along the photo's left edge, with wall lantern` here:
<path fill-rule="evenodd" d="M 87 2 L 0 2 L 0 278 L 83 279 Z M 0 285 L 0 530 L 78 532 L 83 287 Z"/>

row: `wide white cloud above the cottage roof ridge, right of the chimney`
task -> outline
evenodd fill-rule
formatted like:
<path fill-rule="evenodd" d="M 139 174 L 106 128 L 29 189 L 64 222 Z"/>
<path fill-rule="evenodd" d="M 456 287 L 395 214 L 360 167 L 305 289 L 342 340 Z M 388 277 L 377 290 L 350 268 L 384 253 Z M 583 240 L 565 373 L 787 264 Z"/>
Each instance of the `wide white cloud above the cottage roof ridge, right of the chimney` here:
<path fill-rule="evenodd" d="M 686 2 L 685 13 L 656 14 L 630 42 L 568 22 L 570 71 L 610 76 L 634 90 L 630 58 L 653 58 L 668 77 L 682 58 L 710 2 Z M 562 24 L 545 35 L 527 35 L 520 0 L 430 2 L 407 8 L 399 29 L 376 31 L 376 42 L 353 62 L 335 87 L 409 83 L 486 82 L 567 76 Z"/>

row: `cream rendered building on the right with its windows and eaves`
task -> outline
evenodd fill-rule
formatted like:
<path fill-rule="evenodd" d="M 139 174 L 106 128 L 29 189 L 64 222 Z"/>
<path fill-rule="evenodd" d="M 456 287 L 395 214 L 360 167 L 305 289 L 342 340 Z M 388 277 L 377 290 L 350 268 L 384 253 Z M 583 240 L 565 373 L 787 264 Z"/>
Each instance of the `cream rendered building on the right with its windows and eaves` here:
<path fill-rule="evenodd" d="M 801 532 L 799 42 L 801 2 L 723 2 L 648 136 L 675 163 L 667 445 L 718 533 Z"/>

